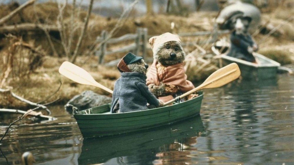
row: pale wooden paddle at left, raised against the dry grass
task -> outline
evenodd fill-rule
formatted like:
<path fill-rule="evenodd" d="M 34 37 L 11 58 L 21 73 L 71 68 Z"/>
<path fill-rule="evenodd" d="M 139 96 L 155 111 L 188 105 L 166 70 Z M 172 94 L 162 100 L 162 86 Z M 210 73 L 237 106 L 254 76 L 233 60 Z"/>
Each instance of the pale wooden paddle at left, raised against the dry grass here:
<path fill-rule="evenodd" d="M 67 78 L 79 84 L 96 86 L 100 89 L 103 89 L 106 92 L 109 92 L 111 94 L 113 93 L 112 90 L 106 88 L 105 86 L 95 81 L 94 78 L 91 76 L 91 74 L 89 74 L 83 68 L 78 67 L 73 63 L 70 63 L 68 61 L 63 62 L 61 66 L 59 67 L 58 71 L 60 74 L 66 76 Z"/>

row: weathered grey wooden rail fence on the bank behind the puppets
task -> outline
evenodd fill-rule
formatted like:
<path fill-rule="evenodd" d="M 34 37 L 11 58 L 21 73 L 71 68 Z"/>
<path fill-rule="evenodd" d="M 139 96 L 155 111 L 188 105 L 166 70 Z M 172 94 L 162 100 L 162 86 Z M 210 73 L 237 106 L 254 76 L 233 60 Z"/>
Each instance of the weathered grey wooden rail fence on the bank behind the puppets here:
<path fill-rule="evenodd" d="M 213 27 L 212 31 L 199 31 L 193 33 L 179 33 L 180 37 L 193 37 L 193 36 L 203 36 L 203 35 L 211 35 L 212 37 L 208 38 L 205 41 L 201 41 L 201 43 L 213 43 L 217 40 L 218 34 L 229 33 L 229 30 L 218 30 L 217 26 Z M 106 55 L 114 54 L 114 53 L 122 53 L 122 52 L 134 52 L 137 56 L 142 56 L 145 59 L 147 54 L 147 48 L 149 47 L 148 39 L 153 37 L 154 35 L 148 35 L 147 28 L 137 28 L 136 34 L 126 34 L 118 38 L 111 38 L 107 42 L 101 45 L 100 50 L 96 52 L 96 55 L 99 57 L 99 64 L 103 64 L 103 59 Z M 101 42 L 107 38 L 107 32 L 105 30 L 102 31 L 101 36 L 97 38 L 97 41 Z M 116 44 L 119 42 L 127 42 L 133 40 L 133 43 L 128 44 L 126 46 L 120 47 L 118 49 L 107 51 L 106 47 L 108 44 Z M 183 46 L 194 45 L 195 42 L 182 42 Z M 120 59 L 113 60 L 108 63 L 104 63 L 106 66 L 115 66 Z"/>

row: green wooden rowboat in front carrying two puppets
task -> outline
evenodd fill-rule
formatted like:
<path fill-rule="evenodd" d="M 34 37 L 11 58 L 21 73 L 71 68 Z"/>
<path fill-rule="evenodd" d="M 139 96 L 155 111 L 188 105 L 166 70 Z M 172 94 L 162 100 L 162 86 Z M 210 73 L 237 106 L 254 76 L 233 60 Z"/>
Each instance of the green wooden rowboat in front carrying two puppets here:
<path fill-rule="evenodd" d="M 83 138 L 117 135 L 167 125 L 200 113 L 203 92 L 199 96 L 171 106 L 127 113 L 109 113 L 110 104 L 74 114 Z"/>

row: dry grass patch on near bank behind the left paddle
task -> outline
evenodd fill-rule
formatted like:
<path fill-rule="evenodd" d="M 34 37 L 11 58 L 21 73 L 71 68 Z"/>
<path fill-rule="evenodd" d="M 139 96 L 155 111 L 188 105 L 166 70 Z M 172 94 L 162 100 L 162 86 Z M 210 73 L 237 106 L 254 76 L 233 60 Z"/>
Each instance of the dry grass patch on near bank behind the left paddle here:
<path fill-rule="evenodd" d="M 78 58 L 81 61 L 82 57 Z M 96 60 L 97 61 L 97 60 Z M 60 82 L 62 82 L 60 90 L 46 102 L 60 100 L 56 103 L 65 104 L 75 95 L 80 94 L 85 90 L 92 90 L 95 93 L 111 96 L 109 93 L 98 89 L 97 87 L 77 84 L 74 81 L 59 74 L 58 69 L 63 60 L 56 57 L 47 57 L 44 65 L 37 69 L 29 78 L 14 79 L 9 81 L 7 88 L 12 88 L 15 94 L 32 102 L 40 102 L 58 90 Z M 54 63 L 54 65 L 52 65 Z M 81 65 L 81 63 L 77 63 Z M 113 90 L 113 85 L 116 79 L 120 76 L 116 68 L 106 68 L 103 66 L 91 67 L 90 65 L 83 66 L 93 78 L 100 84 Z M 2 94 L 1 94 L 2 95 Z M 28 105 L 5 95 L 0 97 L 0 108 L 24 108 Z"/>

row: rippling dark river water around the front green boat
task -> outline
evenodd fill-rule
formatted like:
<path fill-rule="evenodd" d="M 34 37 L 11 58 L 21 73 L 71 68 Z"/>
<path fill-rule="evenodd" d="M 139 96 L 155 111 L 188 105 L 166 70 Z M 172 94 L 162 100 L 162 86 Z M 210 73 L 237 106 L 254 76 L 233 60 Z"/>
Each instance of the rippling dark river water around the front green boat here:
<path fill-rule="evenodd" d="M 83 140 L 63 106 L 50 109 L 57 120 L 22 120 L 9 133 L 0 164 L 21 164 L 26 151 L 36 164 L 54 165 L 294 164 L 294 77 L 287 74 L 205 89 L 200 116 L 127 135 Z M 1 136 L 13 121 L 6 118 Z"/>

